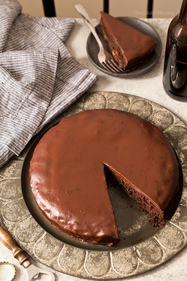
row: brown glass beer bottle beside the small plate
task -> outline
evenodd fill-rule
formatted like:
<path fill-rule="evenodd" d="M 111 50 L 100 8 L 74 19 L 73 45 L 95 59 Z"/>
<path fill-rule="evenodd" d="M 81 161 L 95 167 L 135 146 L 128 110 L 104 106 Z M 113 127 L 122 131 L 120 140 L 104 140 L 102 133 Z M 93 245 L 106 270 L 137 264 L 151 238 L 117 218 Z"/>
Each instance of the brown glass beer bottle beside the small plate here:
<path fill-rule="evenodd" d="M 187 0 L 168 28 L 163 86 L 172 98 L 187 101 Z"/>

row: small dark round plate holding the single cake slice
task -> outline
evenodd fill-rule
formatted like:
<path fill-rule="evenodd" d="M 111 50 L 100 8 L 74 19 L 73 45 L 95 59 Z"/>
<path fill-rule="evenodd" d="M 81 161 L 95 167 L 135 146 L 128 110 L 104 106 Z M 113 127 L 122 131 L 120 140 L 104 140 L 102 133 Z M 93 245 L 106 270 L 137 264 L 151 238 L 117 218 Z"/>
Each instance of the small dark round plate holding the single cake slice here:
<path fill-rule="evenodd" d="M 86 50 L 87 50 L 89 60 L 99 70 L 101 70 L 102 72 L 104 72 L 106 74 L 112 75 L 112 76 L 117 76 L 117 77 L 121 77 L 121 78 L 130 78 L 130 77 L 136 77 L 136 76 L 146 73 L 156 64 L 156 62 L 158 61 L 158 59 L 161 55 L 162 42 L 161 42 L 161 38 L 160 38 L 159 34 L 148 23 L 146 23 L 140 19 L 137 19 L 135 17 L 117 17 L 117 18 L 120 19 L 122 22 L 125 22 L 128 25 L 130 25 L 131 27 L 134 27 L 135 29 L 144 33 L 145 35 L 151 37 L 153 40 L 155 40 L 155 42 L 157 43 L 157 46 L 156 46 L 154 56 L 148 62 L 146 62 L 146 64 L 144 64 L 130 72 L 111 73 L 111 72 L 107 71 L 98 61 L 99 46 L 98 46 L 98 43 L 95 40 L 95 37 L 93 36 L 93 34 L 90 33 L 88 40 L 87 40 L 87 45 L 86 45 Z M 95 27 L 95 29 L 97 31 L 98 37 L 100 38 L 101 42 L 103 43 L 104 48 L 107 49 L 108 52 L 110 52 L 108 44 L 104 40 L 104 37 L 102 34 L 102 28 L 101 28 L 100 24 L 98 24 Z"/>

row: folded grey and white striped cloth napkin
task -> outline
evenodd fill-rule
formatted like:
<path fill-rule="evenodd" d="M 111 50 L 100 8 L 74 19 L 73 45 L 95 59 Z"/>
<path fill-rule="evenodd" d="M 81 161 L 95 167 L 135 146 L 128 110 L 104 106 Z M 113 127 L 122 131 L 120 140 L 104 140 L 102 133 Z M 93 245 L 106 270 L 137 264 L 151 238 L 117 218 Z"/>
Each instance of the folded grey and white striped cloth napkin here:
<path fill-rule="evenodd" d="M 72 18 L 21 10 L 0 0 L 0 167 L 98 80 L 65 47 Z"/>

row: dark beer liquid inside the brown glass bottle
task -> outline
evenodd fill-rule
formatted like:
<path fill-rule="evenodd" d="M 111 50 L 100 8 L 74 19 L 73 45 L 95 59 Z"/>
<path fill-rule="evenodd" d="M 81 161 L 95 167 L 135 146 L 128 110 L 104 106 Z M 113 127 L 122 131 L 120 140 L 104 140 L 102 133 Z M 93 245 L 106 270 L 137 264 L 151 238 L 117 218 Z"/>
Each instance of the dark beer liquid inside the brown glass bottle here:
<path fill-rule="evenodd" d="M 187 47 L 170 44 L 165 51 L 163 85 L 168 95 L 187 97 Z"/>

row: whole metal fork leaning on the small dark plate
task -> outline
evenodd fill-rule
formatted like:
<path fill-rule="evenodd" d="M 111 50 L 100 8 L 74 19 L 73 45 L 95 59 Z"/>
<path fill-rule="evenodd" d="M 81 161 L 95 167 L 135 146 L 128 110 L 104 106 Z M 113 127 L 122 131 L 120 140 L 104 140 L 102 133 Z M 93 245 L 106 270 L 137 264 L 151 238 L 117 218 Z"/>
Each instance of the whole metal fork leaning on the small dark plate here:
<path fill-rule="evenodd" d="M 114 61 L 113 56 L 106 49 L 104 49 L 103 44 L 99 39 L 95 27 L 93 26 L 84 6 L 82 4 L 76 4 L 75 9 L 79 13 L 79 15 L 84 19 L 84 22 L 89 27 L 90 31 L 92 32 L 93 36 L 98 42 L 99 45 L 98 60 L 101 63 L 101 65 L 109 72 L 113 72 L 113 73 L 123 72 L 123 70 Z"/>

